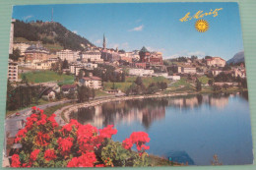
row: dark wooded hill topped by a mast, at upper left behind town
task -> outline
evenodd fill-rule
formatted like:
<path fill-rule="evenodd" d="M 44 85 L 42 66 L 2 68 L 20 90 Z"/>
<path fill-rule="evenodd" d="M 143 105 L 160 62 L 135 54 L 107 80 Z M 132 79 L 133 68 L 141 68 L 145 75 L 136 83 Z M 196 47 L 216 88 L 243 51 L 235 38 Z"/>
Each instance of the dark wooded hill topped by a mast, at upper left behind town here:
<path fill-rule="evenodd" d="M 61 49 L 83 51 L 84 47 L 88 45 L 95 46 L 87 38 L 70 31 L 59 23 L 41 21 L 25 23 L 16 20 L 14 22 L 14 41 L 40 41 L 51 51 Z"/>

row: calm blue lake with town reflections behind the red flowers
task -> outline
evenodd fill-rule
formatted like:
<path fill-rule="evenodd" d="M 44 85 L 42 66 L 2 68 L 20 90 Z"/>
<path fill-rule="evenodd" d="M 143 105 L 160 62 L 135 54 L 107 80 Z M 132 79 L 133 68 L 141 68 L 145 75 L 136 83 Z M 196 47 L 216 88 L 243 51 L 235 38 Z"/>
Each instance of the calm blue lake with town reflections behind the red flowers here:
<path fill-rule="evenodd" d="M 97 128 L 114 125 L 114 141 L 144 131 L 149 153 L 190 165 L 251 164 L 252 137 L 247 93 L 204 94 L 110 102 L 70 115 Z"/>

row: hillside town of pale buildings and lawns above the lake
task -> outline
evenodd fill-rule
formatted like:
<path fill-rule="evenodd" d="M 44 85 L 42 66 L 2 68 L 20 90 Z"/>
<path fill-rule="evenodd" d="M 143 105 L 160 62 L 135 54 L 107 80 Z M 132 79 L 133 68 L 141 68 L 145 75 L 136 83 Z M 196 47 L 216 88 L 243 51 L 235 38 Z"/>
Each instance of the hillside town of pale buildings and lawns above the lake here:
<path fill-rule="evenodd" d="M 53 52 L 40 41 L 14 41 L 12 31 L 13 28 L 9 87 L 19 88 L 20 92 L 26 86 L 34 87 L 33 93 L 27 95 L 28 101 L 22 101 L 24 96 L 19 98 L 18 91 L 12 93 L 10 100 L 20 103 L 15 109 L 41 99 L 69 98 L 83 102 L 95 97 L 246 88 L 244 62 L 227 63 L 220 56 L 180 56 L 164 60 L 160 51 L 149 51 L 145 46 L 133 51 L 108 48 L 104 34 L 102 46 L 81 44 L 83 50 L 80 51 Z M 11 104 L 7 109 L 14 108 Z"/>

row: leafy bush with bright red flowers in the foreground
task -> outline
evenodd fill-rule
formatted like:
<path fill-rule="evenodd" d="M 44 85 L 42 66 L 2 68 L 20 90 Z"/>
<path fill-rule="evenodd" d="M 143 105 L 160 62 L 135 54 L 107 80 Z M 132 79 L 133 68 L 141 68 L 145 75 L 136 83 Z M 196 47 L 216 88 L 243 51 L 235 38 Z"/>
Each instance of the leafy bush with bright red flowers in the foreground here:
<path fill-rule="evenodd" d="M 76 120 L 59 127 L 55 114 L 47 117 L 32 107 L 32 115 L 15 142 L 22 148 L 12 155 L 12 167 L 104 167 L 150 166 L 148 134 L 134 132 L 124 142 L 113 142 L 117 133 L 112 125 L 103 129 Z M 137 151 L 131 147 L 136 144 Z"/>

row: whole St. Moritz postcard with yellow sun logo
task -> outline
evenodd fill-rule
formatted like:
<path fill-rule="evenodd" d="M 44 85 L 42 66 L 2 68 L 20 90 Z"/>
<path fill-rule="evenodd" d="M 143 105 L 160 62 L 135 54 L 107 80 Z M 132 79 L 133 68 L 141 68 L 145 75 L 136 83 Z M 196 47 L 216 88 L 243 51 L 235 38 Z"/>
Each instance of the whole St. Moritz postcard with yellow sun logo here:
<path fill-rule="evenodd" d="M 3 167 L 253 163 L 239 7 L 13 7 Z"/>

